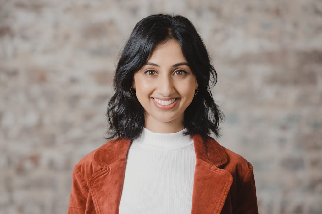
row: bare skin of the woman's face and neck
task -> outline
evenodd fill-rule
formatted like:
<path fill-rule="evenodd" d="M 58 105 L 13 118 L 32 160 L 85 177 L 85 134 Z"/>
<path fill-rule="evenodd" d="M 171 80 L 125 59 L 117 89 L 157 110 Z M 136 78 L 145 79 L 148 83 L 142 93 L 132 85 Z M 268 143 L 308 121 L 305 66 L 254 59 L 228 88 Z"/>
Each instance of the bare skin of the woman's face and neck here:
<path fill-rule="evenodd" d="M 151 65 L 154 64 L 154 65 Z M 175 133 L 183 130 L 185 109 L 194 98 L 198 82 L 187 63 L 180 45 L 175 40 L 156 47 L 147 64 L 134 73 L 133 86 L 145 109 L 145 128 L 155 133 Z M 147 73 L 144 73 L 148 70 Z M 187 73 L 184 73 L 185 72 Z M 178 98 L 171 109 L 156 107 L 153 98 Z"/>

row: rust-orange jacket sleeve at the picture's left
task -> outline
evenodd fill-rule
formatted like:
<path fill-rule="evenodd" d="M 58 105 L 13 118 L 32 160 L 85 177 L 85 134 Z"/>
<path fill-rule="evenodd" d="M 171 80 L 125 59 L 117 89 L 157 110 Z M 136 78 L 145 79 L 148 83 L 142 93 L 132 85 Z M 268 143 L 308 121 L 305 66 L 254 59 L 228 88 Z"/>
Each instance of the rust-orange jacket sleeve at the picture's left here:
<path fill-rule="evenodd" d="M 68 204 L 68 214 L 84 214 L 86 202 L 88 198 L 89 188 L 78 169 L 78 164 L 75 165 L 72 174 L 71 195 Z"/>

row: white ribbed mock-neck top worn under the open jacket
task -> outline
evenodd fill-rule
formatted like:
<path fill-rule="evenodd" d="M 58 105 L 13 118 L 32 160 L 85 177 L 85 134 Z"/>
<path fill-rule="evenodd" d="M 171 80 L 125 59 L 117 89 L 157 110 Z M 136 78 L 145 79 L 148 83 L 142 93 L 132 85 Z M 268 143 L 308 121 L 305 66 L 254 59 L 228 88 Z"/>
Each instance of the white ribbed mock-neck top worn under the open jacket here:
<path fill-rule="evenodd" d="M 142 135 L 128 150 L 120 214 L 190 213 L 196 156 L 194 141 L 182 133 Z"/>

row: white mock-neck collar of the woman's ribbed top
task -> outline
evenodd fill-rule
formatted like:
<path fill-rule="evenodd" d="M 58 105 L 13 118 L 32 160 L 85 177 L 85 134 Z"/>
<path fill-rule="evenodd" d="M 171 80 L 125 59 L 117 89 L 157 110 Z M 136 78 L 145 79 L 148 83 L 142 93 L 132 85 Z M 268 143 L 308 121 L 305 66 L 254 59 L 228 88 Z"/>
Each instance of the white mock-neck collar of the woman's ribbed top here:
<path fill-rule="evenodd" d="M 155 150 L 176 150 L 190 146 L 194 143 L 190 135 L 183 135 L 188 128 L 175 133 L 155 133 L 143 127 L 142 134 L 134 143 Z"/>

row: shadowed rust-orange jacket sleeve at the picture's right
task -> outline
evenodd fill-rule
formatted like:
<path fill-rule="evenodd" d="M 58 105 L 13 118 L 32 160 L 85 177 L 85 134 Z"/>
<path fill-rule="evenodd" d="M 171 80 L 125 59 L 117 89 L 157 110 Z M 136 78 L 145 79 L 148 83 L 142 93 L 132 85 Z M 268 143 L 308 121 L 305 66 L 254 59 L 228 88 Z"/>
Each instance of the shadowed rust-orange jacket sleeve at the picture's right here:
<path fill-rule="evenodd" d="M 258 214 L 255 178 L 250 162 L 248 162 L 248 172 L 237 193 L 233 213 Z"/>

